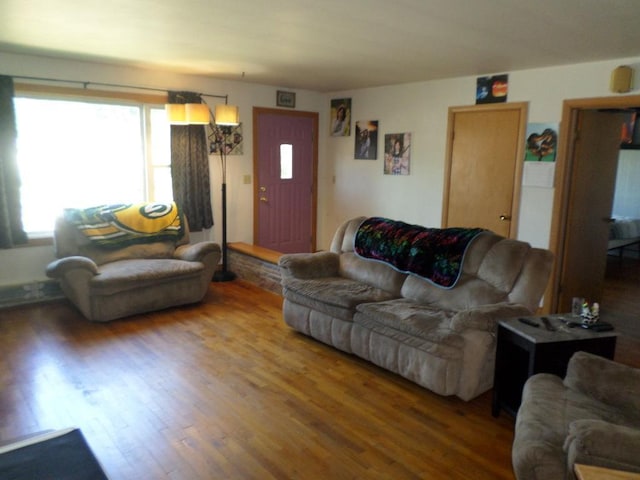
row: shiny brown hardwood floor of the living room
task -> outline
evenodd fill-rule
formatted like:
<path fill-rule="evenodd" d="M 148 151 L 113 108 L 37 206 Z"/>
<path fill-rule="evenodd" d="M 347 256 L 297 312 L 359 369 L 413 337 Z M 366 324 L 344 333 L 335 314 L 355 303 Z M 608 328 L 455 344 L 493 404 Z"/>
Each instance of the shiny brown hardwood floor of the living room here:
<path fill-rule="evenodd" d="M 281 298 L 106 324 L 66 303 L 0 311 L 0 442 L 77 426 L 118 479 L 512 479 L 490 393 L 435 395 L 293 332 Z"/>

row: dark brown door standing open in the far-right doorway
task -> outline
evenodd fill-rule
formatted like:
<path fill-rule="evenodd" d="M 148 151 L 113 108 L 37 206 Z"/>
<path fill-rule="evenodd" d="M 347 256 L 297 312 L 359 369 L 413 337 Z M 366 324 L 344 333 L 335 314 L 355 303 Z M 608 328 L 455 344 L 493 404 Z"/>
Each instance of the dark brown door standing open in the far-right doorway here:
<path fill-rule="evenodd" d="M 558 311 L 572 297 L 599 302 L 607 261 L 621 125 L 614 112 L 580 110 L 574 139 Z"/>

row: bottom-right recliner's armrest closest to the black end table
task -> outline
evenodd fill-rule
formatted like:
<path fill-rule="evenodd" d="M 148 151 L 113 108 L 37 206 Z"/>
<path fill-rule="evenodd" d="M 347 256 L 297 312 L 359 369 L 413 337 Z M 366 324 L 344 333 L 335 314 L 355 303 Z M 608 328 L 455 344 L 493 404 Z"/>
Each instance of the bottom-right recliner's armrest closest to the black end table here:
<path fill-rule="evenodd" d="M 569 360 L 564 384 L 623 411 L 640 411 L 640 369 L 576 352 Z"/>

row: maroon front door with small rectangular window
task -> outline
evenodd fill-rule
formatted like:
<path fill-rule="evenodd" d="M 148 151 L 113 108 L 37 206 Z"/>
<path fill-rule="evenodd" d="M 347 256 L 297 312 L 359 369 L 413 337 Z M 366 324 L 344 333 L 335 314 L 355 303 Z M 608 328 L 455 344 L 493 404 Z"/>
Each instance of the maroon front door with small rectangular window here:
<path fill-rule="evenodd" d="M 254 243 L 315 250 L 318 115 L 254 109 Z"/>

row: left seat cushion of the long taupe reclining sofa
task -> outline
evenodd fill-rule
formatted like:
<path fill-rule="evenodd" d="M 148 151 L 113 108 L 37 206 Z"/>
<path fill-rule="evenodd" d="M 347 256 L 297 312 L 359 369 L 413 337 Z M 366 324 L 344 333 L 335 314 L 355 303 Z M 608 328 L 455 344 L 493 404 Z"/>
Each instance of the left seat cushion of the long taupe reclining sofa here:
<path fill-rule="evenodd" d="M 395 298 L 390 292 L 343 277 L 290 279 L 282 288 L 288 300 L 345 321 L 353 320 L 361 303 Z"/>

